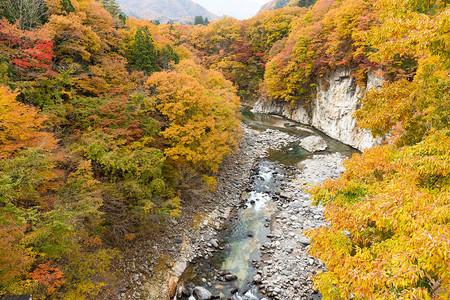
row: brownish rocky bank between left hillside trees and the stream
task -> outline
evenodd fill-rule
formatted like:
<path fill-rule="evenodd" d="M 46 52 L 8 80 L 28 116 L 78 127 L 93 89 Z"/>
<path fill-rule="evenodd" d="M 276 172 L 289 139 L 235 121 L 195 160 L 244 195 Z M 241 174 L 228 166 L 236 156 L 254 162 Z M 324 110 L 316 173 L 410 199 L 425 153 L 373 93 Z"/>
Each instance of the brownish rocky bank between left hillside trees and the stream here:
<path fill-rule="evenodd" d="M 297 137 L 276 130 L 256 131 L 242 125 L 239 148 L 228 156 L 216 174 L 215 190 L 183 203 L 181 217 L 167 220 L 155 239 L 123 254 L 118 269 L 121 281 L 106 297 L 118 299 L 169 299 L 187 264 L 216 250 L 215 236 L 233 209 L 241 203 L 255 163 L 269 149 L 281 149 Z"/>

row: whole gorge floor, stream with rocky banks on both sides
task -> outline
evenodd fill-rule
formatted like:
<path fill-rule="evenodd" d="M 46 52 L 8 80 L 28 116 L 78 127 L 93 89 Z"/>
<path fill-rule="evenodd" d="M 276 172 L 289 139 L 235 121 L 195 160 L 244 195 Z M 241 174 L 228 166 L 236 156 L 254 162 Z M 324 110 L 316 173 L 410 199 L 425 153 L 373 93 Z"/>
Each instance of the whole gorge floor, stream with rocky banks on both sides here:
<path fill-rule="evenodd" d="M 304 188 L 338 177 L 342 161 L 356 150 L 277 116 L 244 111 L 243 121 L 245 142 L 229 162 L 238 164 L 227 165 L 225 174 L 242 161 L 251 173 L 230 181 L 219 171 L 218 189 L 231 198 L 206 214 L 198 233 L 182 238 L 191 242 L 181 245 L 179 259 L 164 271 L 166 284 L 144 285 L 150 299 L 188 299 L 195 287 L 220 298 L 321 298 L 309 276 L 323 265 L 307 254 L 310 241 L 302 232 L 326 223 L 323 207 L 311 206 Z M 299 142 L 310 136 L 321 136 L 327 150 L 301 149 Z"/>

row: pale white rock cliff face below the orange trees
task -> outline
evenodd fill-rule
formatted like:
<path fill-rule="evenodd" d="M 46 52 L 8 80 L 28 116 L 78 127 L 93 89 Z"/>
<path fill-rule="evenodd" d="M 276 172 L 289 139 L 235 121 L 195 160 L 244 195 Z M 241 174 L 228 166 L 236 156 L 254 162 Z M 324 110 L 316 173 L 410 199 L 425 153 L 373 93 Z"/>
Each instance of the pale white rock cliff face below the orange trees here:
<path fill-rule="evenodd" d="M 356 85 L 350 70 L 338 70 L 327 78 L 329 87 L 317 88 L 317 94 L 309 105 L 291 106 L 286 102 L 259 101 L 254 112 L 277 114 L 296 122 L 311 125 L 330 137 L 356 149 L 364 150 L 381 143 L 370 131 L 356 126 L 352 114 L 361 107 L 365 89 Z M 370 74 L 367 88 L 378 88 L 382 79 Z M 320 86 L 320 85 L 319 85 Z"/>

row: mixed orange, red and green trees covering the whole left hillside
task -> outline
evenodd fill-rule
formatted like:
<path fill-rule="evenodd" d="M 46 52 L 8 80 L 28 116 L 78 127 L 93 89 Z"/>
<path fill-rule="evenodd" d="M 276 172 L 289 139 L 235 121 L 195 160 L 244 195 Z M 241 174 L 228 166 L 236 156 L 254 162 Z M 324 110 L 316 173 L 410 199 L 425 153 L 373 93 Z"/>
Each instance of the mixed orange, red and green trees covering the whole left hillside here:
<path fill-rule="evenodd" d="M 1 12 L 0 294 L 92 299 L 114 284 L 117 249 L 178 216 L 189 185 L 214 183 L 239 99 L 190 59 L 190 27 L 91 0 L 19 2 L 43 11 Z"/>

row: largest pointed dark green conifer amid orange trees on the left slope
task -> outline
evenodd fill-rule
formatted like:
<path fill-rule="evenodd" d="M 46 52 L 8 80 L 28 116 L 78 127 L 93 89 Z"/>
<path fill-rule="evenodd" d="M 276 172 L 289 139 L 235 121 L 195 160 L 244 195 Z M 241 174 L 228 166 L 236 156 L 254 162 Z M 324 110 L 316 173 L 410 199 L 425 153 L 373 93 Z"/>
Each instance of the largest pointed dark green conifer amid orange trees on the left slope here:
<path fill-rule="evenodd" d="M 131 52 L 131 62 L 138 70 L 147 74 L 158 71 L 156 59 L 158 52 L 153 45 L 153 39 L 147 27 L 138 28 L 134 36 L 134 44 Z"/>

